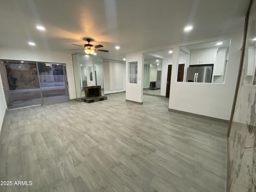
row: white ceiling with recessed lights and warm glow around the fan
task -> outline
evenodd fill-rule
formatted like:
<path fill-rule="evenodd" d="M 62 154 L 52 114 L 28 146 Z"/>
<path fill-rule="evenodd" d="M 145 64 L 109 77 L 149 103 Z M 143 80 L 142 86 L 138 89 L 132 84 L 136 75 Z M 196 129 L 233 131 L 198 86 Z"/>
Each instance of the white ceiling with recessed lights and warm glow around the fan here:
<path fill-rule="evenodd" d="M 0 0 L 0 47 L 72 54 L 83 38 L 106 59 L 242 30 L 250 0 Z M 194 29 L 183 32 L 184 26 Z M 36 25 L 46 30 L 38 31 Z M 36 46 L 28 45 L 29 41 Z M 114 47 L 120 46 L 120 50 Z M 83 52 L 83 50 L 78 50 Z"/>

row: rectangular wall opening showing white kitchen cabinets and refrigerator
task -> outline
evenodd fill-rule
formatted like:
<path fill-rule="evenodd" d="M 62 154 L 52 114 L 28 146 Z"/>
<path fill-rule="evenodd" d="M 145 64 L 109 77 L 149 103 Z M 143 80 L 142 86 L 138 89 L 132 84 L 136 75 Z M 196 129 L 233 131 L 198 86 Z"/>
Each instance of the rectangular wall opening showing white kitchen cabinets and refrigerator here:
<path fill-rule="evenodd" d="M 230 40 L 180 47 L 177 82 L 224 83 L 229 47 Z"/>

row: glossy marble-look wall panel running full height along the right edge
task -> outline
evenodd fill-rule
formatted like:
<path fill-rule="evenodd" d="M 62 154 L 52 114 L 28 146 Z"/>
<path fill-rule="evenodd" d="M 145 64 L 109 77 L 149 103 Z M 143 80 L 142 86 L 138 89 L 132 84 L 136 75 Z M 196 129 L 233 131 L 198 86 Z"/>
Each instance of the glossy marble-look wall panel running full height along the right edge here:
<path fill-rule="evenodd" d="M 229 145 L 229 192 L 256 192 L 256 2 L 248 20 L 244 61 Z"/>

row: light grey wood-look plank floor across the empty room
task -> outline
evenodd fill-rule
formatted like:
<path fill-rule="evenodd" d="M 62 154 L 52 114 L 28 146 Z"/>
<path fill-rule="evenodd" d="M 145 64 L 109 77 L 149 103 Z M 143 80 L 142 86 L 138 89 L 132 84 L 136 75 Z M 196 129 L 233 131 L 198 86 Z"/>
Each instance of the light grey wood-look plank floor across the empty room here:
<path fill-rule="evenodd" d="M 224 192 L 227 124 L 143 97 L 143 105 L 119 93 L 7 111 L 0 181 L 13 185 L 0 191 Z"/>

